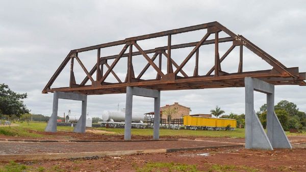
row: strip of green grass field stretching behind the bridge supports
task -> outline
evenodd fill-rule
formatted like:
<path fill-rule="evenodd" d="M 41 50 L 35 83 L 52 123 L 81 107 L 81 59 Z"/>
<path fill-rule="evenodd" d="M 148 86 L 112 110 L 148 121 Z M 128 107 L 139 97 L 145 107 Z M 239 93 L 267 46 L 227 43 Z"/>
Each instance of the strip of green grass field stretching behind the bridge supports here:
<path fill-rule="evenodd" d="M 33 131 L 44 131 L 46 127 L 45 122 L 23 122 L 14 123 L 17 126 L 0 127 L 1 135 L 7 136 L 23 136 L 23 137 L 44 137 L 43 134 L 35 133 Z M 58 130 L 72 131 L 72 127 L 57 127 Z M 112 131 L 115 134 L 124 134 L 123 128 L 93 128 L 96 130 Z M 306 133 L 289 133 L 287 135 L 306 135 Z M 152 129 L 132 129 L 132 135 L 153 135 Z M 232 137 L 244 138 L 244 129 L 237 128 L 234 131 L 206 131 L 206 130 L 168 130 L 161 129 L 160 136 L 203 136 L 203 137 Z"/>

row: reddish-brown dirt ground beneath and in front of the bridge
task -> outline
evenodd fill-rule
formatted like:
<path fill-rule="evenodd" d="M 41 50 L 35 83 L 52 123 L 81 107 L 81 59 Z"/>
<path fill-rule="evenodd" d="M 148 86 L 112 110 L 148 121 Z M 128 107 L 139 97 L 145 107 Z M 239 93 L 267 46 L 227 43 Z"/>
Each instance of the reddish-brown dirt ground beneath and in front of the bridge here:
<path fill-rule="evenodd" d="M 90 139 L 90 140 L 122 140 L 123 135 L 107 135 L 89 133 L 72 133 L 59 131 L 57 133 L 45 133 L 55 137 L 45 137 L 42 139 Z M 63 137 L 67 136 L 68 137 Z M 16 137 L 11 137 L 16 138 Z M 224 145 L 224 144 L 242 144 L 244 138 L 205 138 L 205 137 L 172 137 L 166 136 L 161 138 L 185 138 L 192 139 L 196 142 L 205 142 L 206 145 Z M 20 161 L 19 165 L 27 166 L 27 169 L 39 171 L 184 171 L 182 168 L 174 170 L 162 165 L 193 165 L 199 171 L 306 171 L 306 136 L 288 136 L 292 150 L 277 149 L 274 151 L 246 150 L 242 147 L 236 148 L 216 148 L 196 151 L 180 151 L 163 154 L 141 154 L 118 157 L 85 157 L 80 159 L 62 159 L 62 160 L 39 160 L 39 161 Z M 151 139 L 150 136 L 132 136 L 132 139 Z M 202 140 L 202 141 L 201 141 Z M 166 143 L 166 141 L 164 141 Z M 171 141 L 170 141 L 171 142 Z M 168 142 L 168 143 L 170 143 Z M 125 142 L 127 144 L 129 142 Z M 149 147 L 154 146 L 151 141 Z M 1 144 L 1 143 L 0 143 Z M 11 142 L 14 146 L 22 150 L 23 144 L 20 142 Z M 41 144 L 41 143 L 39 143 Z M 49 143 L 52 150 L 64 151 L 70 148 L 69 144 L 64 142 Z M 58 145 L 56 145 L 58 144 Z M 61 145 L 62 144 L 62 145 Z M 66 145 L 67 144 L 67 145 Z M 103 149 L 105 142 L 81 142 L 81 146 L 75 147 L 74 151 L 86 151 L 85 148 L 91 147 L 93 150 Z M 132 144 L 132 143 L 130 143 Z M 136 148 L 142 148 L 140 145 L 134 145 Z M 163 145 L 163 141 L 160 142 Z M 42 144 L 43 145 L 43 144 Z M 52 146 L 53 145 L 53 146 Z M 124 146 L 109 143 L 114 149 L 125 149 Z M 129 144 L 125 145 L 128 146 Z M 172 144 L 174 145 L 174 144 Z M 36 147 L 32 145 L 30 149 L 24 149 L 27 153 L 35 152 Z M 72 145 L 73 146 L 73 143 Z M 183 147 L 184 145 L 176 144 L 175 146 Z M 197 144 L 195 145 L 197 146 Z M 0 145 L 2 150 L 4 147 Z M 157 146 L 158 148 L 159 146 Z M 6 149 L 8 150 L 8 149 Z M 18 150 L 17 150 L 18 151 Z M 77 152 L 78 152 L 77 151 Z M 103 150 L 101 150 L 103 151 Z M 52 151 L 53 152 L 53 151 Z M 59 152 L 59 153 L 60 153 Z M 18 153 L 18 152 L 17 152 Z M 203 156 L 206 155 L 206 156 Z M 0 162 L 0 171 L 8 163 Z M 155 165 L 155 166 L 154 166 Z M 153 166 L 153 167 L 152 167 Z M 181 166 L 180 166 L 181 167 Z M 43 170 L 42 170 L 43 169 Z M 186 170 L 185 170 L 186 171 Z"/>

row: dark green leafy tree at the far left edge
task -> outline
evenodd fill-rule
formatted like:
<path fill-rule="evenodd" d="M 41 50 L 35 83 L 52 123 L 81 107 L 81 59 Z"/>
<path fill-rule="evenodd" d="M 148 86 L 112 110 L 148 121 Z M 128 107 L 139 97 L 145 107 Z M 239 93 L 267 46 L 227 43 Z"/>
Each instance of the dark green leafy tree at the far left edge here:
<path fill-rule="evenodd" d="M 13 92 L 8 85 L 0 84 L 0 112 L 12 116 L 15 114 L 20 117 L 23 113 L 29 113 L 27 106 L 22 99 L 27 98 L 27 93 L 18 94 Z"/>

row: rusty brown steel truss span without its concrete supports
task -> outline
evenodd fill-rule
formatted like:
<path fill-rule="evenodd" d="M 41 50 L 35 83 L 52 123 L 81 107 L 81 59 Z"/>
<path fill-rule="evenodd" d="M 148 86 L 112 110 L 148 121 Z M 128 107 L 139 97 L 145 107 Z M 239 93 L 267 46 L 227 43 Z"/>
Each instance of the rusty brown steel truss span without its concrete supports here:
<path fill-rule="evenodd" d="M 197 30 L 207 29 L 207 33 L 200 38 L 198 42 L 188 42 L 183 44 L 171 44 L 171 36 L 175 34 L 182 34 L 186 32 L 193 32 Z M 219 33 L 224 32 L 228 37 L 219 38 Z M 214 39 L 207 40 L 210 35 L 214 35 Z M 147 40 L 157 37 L 167 37 L 167 46 L 156 47 L 154 49 L 142 49 L 137 41 Z M 232 42 L 233 45 L 222 56 L 219 55 L 219 43 Z M 214 44 L 215 61 L 214 66 L 205 75 L 199 75 L 199 47 L 208 44 Z M 100 52 L 103 48 L 122 45 L 120 52 L 110 56 L 100 56 Z M 271 66 L 270 70 L 260 71 L 243 71 L 243 46 L 250 51 L 258 55 L 266 63 Z M 193 47 L 192 51 L 186 56 L 185 60 L 181 64 L 175 62 L 175 58 L 171 57 L 171 50 L 178 48 Z M 235 48 L 240 48 L 239 66 L 236 73 L 227 73 L 222 71 L 221 62 L 226 56 Z M 136 51 L 133 49 L 136 49 Z M 78 53 L 84 51 L 96 50 L 97 58 L 96 64 L 92 69 L 88 70 L 80 60 Z M 127 51 L 127 52 L 126 52 Z M 147 65 L 143 70 L 135 75 L 133 69 L 132 58 L 134 55 L 142 55 L 147 61 Z M 114 67 L 118 64 L 118 61 L 122 58 L 127 58 L 127 71 L 125 80 L 120 80 Z M 139 57 L 137 57 L 139 58 Z M 162 72 L 162 58 L 167 59 L 167 71 Z M 193 75 L 189 76 L 184 72 L 184 66 L 191 59 L 195 58 L 195 67 L 192 69 Z M 86 75 L 81 83 L 76 83 L 73 72 L 74 60 L 81 65 Z M 114 60 L 111 64 L 108 60 Z M 158 60 L 159 63 L 154 61 Z M 53 82 L 57 76 L 62 72 L 63 68 L 70 61 L 70 80 L 69 86 L 63 88 L 52 88 Z M 205 60 L 202 61 L 205 63 Z M 142 79 L 143 74 L 149 67 L 156 70 L 157 76 L 155 79 Z M 106 69 L 106 72 L 103 70 Z M 93 74 L 96 73 L 96 76 Z M 181 74 L 179 76 L 178 74 Z M 106 82 L 107 77 L 112 74 L 117 79 L 117 82 Z M 116 94 L 125 93 L 126 87 L 141 87 L 153 90 L 189 90 L 189 89 L 206 89 L 206 88 L 229 88 L 229 87 L 244 87 L 244 78 L 253 77 L 266 81 L 274 85 L 306 85 L 305 73 L 300 73 L 298 67 L 287 68 L 281 62 L 278 62 L 267 52 L 251 43 L 242 35 L 236 35 L 226 27 L 218 22 L 210 22 L 205 24 L 199 24 L 194 26 L 188 26 L 183 28 L 177 28 L 175 30 L 169 30 L 154 34 L 142 35 L 132 38 L 126 38 L 124 40 L 109 42 L 90 47 L 71 50 L 54 75 L 50 78 L 42 93 L 60 91 L 60 92 L 74 92 L 86 95 L 99 95 L 99 94 Z M 86 84 L 90 80 L 90 84 Z M 67 82 L 68 83 L 68 82 Z"/>

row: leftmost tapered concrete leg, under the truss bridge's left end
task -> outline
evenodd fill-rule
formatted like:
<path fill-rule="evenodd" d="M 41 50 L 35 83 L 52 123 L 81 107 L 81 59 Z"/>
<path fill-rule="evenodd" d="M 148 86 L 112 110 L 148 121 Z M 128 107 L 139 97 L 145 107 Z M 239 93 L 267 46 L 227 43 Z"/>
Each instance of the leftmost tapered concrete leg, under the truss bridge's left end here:
<path fill-rule="evenodd" d="M 53 93 L 52 114 L 51 114 L 51 117 L 49 118 L 48 124 L 45 128 L 46 132 L 56 132 L 56 130 L 57 130 L 58 106 L 59 106 L 59 95 L 58 95 L 58 92 L 54 92 Z"/>

